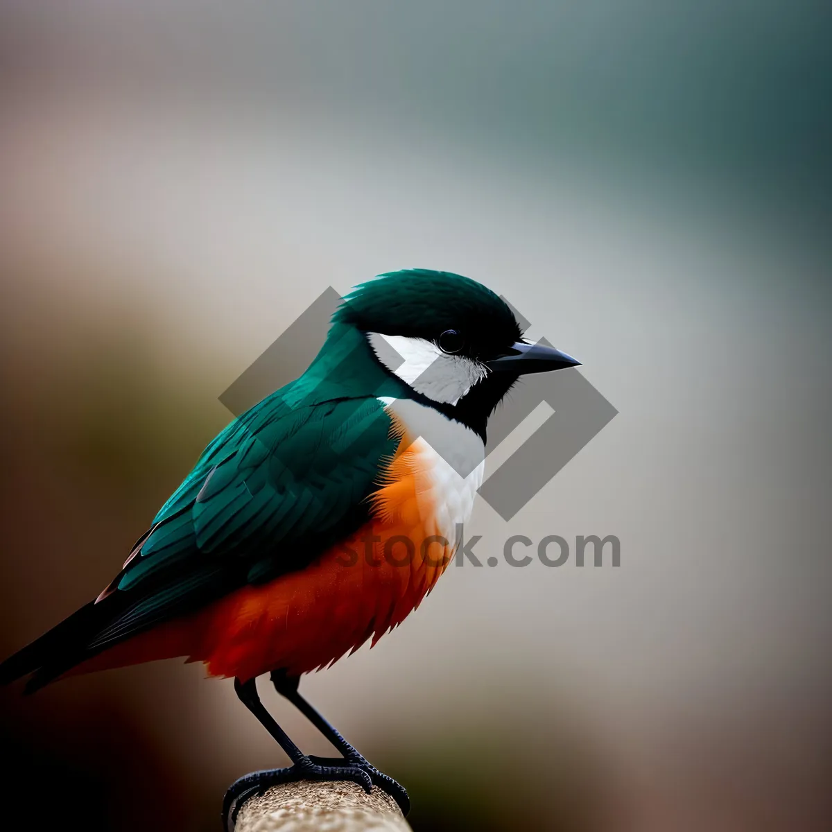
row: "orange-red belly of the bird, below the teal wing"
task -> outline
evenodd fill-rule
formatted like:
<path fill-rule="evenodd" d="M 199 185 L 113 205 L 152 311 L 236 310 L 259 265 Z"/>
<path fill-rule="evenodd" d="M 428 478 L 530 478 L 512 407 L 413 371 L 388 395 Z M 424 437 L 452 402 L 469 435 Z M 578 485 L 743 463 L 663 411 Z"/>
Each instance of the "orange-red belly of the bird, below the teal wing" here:
<path fill-rule="evenodd" d="M 205 662 L 210 676 L 247 680 L 275 669 L 297 676 L 370 637 L 374 644 L 418 607 L 453 556 L 453 537 L 436 526 L 434 507 L 426 504 L 430 472 L 404 436 L 399 448 L 373 495 L 372 518 L 349 540 L 299 572 L 241 587 L 77 671 L 188 656 Z"/>

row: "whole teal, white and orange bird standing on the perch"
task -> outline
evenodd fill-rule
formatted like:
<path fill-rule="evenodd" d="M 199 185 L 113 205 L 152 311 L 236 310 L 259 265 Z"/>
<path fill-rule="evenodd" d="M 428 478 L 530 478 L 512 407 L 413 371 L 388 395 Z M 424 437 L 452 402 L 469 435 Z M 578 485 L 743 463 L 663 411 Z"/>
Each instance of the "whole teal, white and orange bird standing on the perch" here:
<path fill-rule="evenodd" d="M 374 645 L 431 592 L 483 483 L 488 417 L 524 374 L 579 365 L 522 337 L 485 285 L 409 269 L 354 287 L 308 369 L 235 418 L 98 596 L 0 664 L 32 693 L 77 673 L 174 657 L 233 678 L 289 756 L 245 775 L 223 817 L 291 780 L 407 791 L 300 695 L 300 677 Z M 305 755 L 265 709 L 269 675 L 339 752 Z"/>

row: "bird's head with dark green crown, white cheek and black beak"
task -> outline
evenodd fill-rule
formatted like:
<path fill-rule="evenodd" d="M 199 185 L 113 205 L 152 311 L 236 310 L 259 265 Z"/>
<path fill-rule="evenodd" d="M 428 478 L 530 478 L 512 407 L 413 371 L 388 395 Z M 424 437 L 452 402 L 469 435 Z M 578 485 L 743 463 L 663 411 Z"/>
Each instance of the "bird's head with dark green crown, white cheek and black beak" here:
<path fill-rule="evenodd" d="M 347 295 L 334 322 L 359 330 L 374 360 L 415 396 L 483 433 L 488 415 L 521 375 L 579 364 L 523 340 L 504 300 L 449 272 L 379 275 Z"/>

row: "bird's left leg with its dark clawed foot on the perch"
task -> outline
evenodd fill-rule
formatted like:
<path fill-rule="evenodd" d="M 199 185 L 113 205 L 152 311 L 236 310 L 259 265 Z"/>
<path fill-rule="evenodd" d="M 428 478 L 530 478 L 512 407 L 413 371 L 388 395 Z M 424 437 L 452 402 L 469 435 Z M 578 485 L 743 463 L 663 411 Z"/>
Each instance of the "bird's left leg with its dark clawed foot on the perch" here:
<path fill-rule="evenodd" d="M 290 783 L 295 780 L 352 780 L 358 783 L 364 791 L 368 792 L 373 787 L 373 780 L 368 770 L 355 765 L 352 760 L 346 760 L 346 765 L 329 765 L 329 760 L 311 759 L 290 740 L 269 711 L 260 701 L 257 694 L 257 686 L 254 679 L 242 682 L 234 680 L 234 690 L 240 701 L 253 713 L 260 725 L 272 735 L 280 744 L 280 747 L 289 755 L 292 764 L 284 769 L 267 769 L 255 771 L 245 777 L 236 780 L 225 792 L 223 800 L 223 822 L 228 832 L 234 830 L 237 813 L 246 800 L 252 795 L 262 794 L 266 789 L 278 783 Z"/>

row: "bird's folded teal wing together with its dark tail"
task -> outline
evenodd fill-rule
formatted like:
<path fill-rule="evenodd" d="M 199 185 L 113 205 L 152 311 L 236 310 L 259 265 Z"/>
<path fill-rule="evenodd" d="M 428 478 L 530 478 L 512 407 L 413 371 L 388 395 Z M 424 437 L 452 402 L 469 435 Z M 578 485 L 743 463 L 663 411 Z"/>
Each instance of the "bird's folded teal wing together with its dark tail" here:
<path fill-rule="evenodd" d="M 388 414 L 375 398 L 299 404 L 291 388 L 210 443 L 99 600 L 60 638 L 64 625 L 24 648 L 10 674 L 37 670 L 37 689 L 149 626 L 302 569 L 366 522 L 395 452 Z"/>

